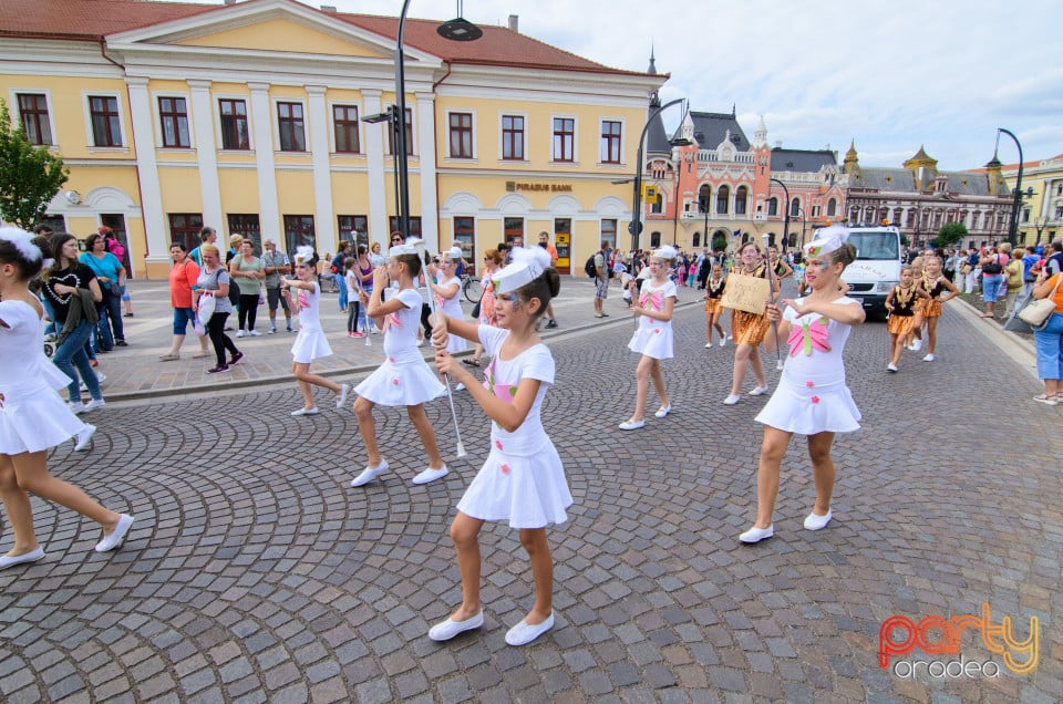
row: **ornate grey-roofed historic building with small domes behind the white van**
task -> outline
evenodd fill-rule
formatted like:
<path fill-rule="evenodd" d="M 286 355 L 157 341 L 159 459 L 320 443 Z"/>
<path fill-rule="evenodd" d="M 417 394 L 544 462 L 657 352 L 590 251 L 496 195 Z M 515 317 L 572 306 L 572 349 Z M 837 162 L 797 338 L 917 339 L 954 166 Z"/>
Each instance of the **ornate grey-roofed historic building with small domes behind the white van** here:
<path fill-rule="evenodd" d="M 855 143 L 845 155 L 846 210 L 855 224 L 896 225 L 912 245 L 925 245 L 947 222 L 962 222 L 970 234 L 961 247 L 1008 238 L 1012 190 L 995 155 L 984 169 L 941 172 L 919 151 L 900 168 L 860 166 Z"/>

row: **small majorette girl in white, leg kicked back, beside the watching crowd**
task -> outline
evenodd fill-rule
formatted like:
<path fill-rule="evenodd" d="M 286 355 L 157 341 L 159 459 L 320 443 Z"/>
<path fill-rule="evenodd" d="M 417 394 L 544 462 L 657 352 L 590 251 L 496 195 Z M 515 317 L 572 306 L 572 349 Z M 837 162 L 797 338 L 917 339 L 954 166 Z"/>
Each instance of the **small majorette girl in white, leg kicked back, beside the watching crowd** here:
<path fill-rule="evenodd" d="M 295 344 L 291 345 L 291 373 L 299 382 L 299 391 L 302 392 L 302 407 L 292 411 L 291 415 L 317 415 L 318 406 L 313 403 L 313 386 L 328 389 L 336 394 L 336 407 L 342 408 L 347 402 L 347 394 L 351 390 L 350 384 L 337 384 L 323 376 L 310 373 L 310 363 L 322 356 L 332 354 L 332 348 L 324 338 L 324 331 L 321 330 L 321 318 L 318 307 L 321 302 L 321 287 L 313 276 L 313 268 L 309 265 L 313 258 L 313 249 L 310 247 L 299 247 L 296 249 L 296 278 L 289 279 L 281 277 L 280 293 L 288 301 L 288 310 L 293 315 L 299 315 L 299 334 L 296 337 Z M 299 293 L 291 294 L 295 289 Z"/>

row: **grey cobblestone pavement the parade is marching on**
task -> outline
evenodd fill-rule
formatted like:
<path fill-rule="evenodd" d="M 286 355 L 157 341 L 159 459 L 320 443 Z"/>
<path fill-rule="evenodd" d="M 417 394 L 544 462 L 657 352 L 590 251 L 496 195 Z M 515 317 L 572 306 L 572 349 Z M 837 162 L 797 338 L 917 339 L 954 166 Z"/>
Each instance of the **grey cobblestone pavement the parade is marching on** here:
<path fill-rule="evenodd" d="M 483 630 L 425 635 L 461 599 L 447 526 L 486 455 L 467 394 L 465 460 L 446 403 L 427 406 L 445 479 L 410 484 L 423 451 L 401 410 L 381 410 L 392 470 L 360 489 L 350 410 L 292 418 L 293 384 L 109 404 L 95 447 L 60 447 L 51 466 L 137 520 L 121 551 L 97 555 L 94 526 L 34 499 L 48 557 L 0 572 L 0 700 L 1060 701 L 1061 410 L 1030 401 L 1029 360 L 1004 355 L 990 324 L 947 307 L 938 361 L 910 354 L 895 375 L 885 325 L 857 329 L 846 356 L 864 428 L 835 444 L 835 520 L 802 529 L 814 493 L 795 442 L 776 537 L 752 547 L 736 536 L 753 518 L 766 397 L 720 403 L 733 350 L 702 346 L 698 308 L 678 314 L 664 364 L 674 412 L 634 433 L 616 427 L 633 403 L 630 322 L 551 340 L 545 423 L 576 504 L 548 532 L 557 625 L 520 649 L 503 635 L 532 583 L 506 526 L 482 534 Z M 885 619 L 983 602 L 1021 636 L 1039 619 L 1033 673 L 879 666 Z M 976 633 L 961 645 L 1002 662 Z"/>

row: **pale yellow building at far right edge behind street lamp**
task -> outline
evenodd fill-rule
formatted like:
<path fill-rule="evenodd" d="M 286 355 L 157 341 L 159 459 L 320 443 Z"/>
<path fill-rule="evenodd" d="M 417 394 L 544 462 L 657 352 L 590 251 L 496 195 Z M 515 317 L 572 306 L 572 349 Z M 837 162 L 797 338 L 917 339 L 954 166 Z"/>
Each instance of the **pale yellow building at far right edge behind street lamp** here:
<path fill-rule="evenodd" d="M 1008 187 L 1014 188 L 1019 165 L 1009 164 L 1001 173 Z M 1063 154 L 1025 162 L 1020 188 L 1019 244 L 1035 246 L 1063 238 Z"/>

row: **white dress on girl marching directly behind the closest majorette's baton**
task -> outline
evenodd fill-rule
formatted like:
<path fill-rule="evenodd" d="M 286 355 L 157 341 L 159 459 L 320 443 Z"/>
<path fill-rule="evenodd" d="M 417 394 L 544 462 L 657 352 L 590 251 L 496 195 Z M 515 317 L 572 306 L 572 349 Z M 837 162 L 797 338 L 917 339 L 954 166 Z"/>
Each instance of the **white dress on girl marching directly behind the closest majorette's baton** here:
<path fill-rule="evenodd" d="M 415 289 L 394 298 L 403 308 L 388 315 L 384 330 L 384 363 L 354 387 L 354 393 L 381 406 L 415 406 L 446 393 L 417 350 L 417 325 L 424 299 Z"/>

